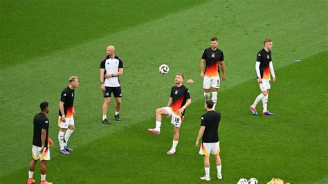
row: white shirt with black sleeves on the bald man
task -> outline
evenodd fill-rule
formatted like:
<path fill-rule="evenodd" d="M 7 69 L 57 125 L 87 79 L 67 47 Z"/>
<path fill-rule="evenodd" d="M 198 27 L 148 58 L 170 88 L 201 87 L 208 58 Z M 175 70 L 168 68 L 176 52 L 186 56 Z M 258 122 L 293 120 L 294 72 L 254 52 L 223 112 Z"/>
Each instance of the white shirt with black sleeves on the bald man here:
<path fill-rule="evenodd" d="M 115 56 L 113 59 L 107 56 L 102 59 L 100 68 L 104 68 L 104 74 L 116 73 L 118 72 L 118 68 L 123 68 L 123 62 L 118 56 Z M 118 87 L 120 86 L 120 78 L 118 76 L 104 78 L 104 86 Z"/>

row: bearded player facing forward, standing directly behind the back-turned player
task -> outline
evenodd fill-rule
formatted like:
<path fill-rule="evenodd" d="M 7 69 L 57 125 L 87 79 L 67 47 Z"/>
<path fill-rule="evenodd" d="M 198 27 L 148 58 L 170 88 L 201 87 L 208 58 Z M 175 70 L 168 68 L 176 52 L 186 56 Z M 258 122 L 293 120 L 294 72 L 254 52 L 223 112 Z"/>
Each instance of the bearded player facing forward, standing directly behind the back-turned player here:
<path fill-rule="evenodd" d="M 203 78 L 204 98 L 210 98 L 210 87 L 212 87 L 212 100 L 214 107 L 217 104 L 217 91 L 220 87 L 219 64 L 221 66 L 221 80 L 226 80 L 226 65 L 224 64 L 224 53 L 217 48 L 219 44 L 216 37 L 210 39 L 210 48 L 206 48 L 201 56 L 201 77 Z M 205 72 L 204 72 L 204 66 Z"/>

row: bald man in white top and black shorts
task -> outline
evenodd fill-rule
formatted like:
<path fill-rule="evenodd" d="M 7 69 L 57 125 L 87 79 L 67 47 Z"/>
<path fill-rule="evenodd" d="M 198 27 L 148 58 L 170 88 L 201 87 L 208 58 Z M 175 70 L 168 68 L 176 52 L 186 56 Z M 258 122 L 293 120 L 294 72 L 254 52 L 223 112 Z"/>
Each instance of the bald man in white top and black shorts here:
<path fill-rule="evenodd" d="M 107 46 L 107 57 L 102 59 L 100 64 L 100 84 L 104 92 L 104 104 L 102 104 L 102 123 L 111 124 L 107 120 L 107 109 L 111 102 L 111 93 L 116 100 L 116 111 L 114 118 L 120 121 L 120 106 L 122 104 L 122 91 L 120 89 L 120 75 L 123 75 L 123 62 L 120 57 L 115 55 L 115 47 Z"/>

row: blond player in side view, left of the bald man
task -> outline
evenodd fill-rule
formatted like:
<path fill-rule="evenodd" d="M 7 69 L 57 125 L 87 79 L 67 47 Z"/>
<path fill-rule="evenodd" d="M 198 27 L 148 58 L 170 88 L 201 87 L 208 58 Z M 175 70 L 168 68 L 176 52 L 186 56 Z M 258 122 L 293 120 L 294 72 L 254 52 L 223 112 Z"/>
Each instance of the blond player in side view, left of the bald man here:
<path fill-rule="evenodd" d="M 69 154 L 69 151 L 73 151 L 67 144 L 69 138 L 75 129 L 74 116 L 75 110 L 73 107 L 75 88 L 78 87 L 78 77 L 69 77 L 69 86 L 62 91 L 60 95 L 60 111 L 58 118 L 58 126 L 60 132 L 58 133 L 58 140 L 60 141 L 60 153 Z"/>

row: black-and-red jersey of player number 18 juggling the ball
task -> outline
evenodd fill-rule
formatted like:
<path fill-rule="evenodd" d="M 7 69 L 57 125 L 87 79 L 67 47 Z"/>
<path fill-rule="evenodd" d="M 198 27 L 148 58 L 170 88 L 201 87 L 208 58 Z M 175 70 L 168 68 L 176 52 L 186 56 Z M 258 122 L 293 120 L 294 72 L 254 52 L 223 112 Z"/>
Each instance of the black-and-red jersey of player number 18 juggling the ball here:
<path fill-rule="evenodd" d="M 185 105 L 188 99 L 190 99 L 189 90 L 185 86 L 173 86 L 171 89 L 171 98 L 172 104 L 171 109 L 174 113 L 179 114 L 178 111 Z M 184 115 L 185 111 L 183 111 L 182 116 Z"/>

